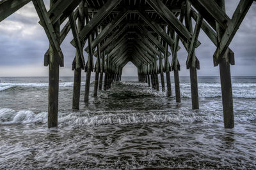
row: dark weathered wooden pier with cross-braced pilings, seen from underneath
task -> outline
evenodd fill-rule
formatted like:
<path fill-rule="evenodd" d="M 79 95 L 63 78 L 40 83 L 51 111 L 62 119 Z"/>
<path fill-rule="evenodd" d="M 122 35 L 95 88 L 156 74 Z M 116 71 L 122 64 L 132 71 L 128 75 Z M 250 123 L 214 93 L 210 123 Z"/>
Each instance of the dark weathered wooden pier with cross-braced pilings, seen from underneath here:
<path fill-rule="evenodd" d="M 0 22 L 30 1 L 0 1 Z M 44 66 L 49 67 L 49 128 L 58 127 L 59 69 L 64 66 L 60 45 L 68 32 L 72 31 L 74 39 L 70 43 L 76 48 L 72 63 L 73 109 L 79 110 L 81 71 L 86 72 L 84 102 L 88 103 L 91 73 L 95 72 L 93 96 L 97 97 L 99 90 L 108 90 L 113 81 L 121 80 L 122 69 L 130 61 L 138 68 L 139 81 L 156 90 L 160 90 L 161 83 L 167 96 L 172 96 L 173 73 L 175 97 L 180 103 L 177 52 L 181 43 L 188 52 L 184 64 L 190 73 L 191 108 L 199 109 L 196 71 L 200 62 L 195 49 L 204 43 L 198 41 L 201 29 L 216 46 L 213 66 L 220 67 L 224 126 L 234 127 L 230 75 L 234 52 L 228 46 L 253 0 L 240 0 L 232 18 L 225 13 L 225 0 L 51 0 L 49 11 L 43 0 L 32 1 L 49 39 L 49 50 L 44 55 Z M 86 60 L 83 50 L 88 53 Z"/>

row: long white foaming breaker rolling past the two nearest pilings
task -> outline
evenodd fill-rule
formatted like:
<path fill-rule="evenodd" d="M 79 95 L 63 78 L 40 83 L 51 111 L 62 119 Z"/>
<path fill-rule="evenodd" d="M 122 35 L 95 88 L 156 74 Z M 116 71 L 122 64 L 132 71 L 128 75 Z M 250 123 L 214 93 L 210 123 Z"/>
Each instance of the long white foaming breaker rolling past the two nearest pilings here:
<path fill-rule="evenodd" d="M 207 108 L 206 108 L 207 109 Z M 179 110 L 117 110 L 59 113 L 59 126 L 99 126 L 112 124 L 145 124 L 145 123 L 195 123 L 223 122 L 222 112 L 216 110 L 192 111 L 189 108 Z M 236 114 L 235 122 L 256 120 L 256 113 Z M 33 113 L 29 110 L 14 111 L 0 108 L 0 124 L 46 124 L 47 112 Z"/>

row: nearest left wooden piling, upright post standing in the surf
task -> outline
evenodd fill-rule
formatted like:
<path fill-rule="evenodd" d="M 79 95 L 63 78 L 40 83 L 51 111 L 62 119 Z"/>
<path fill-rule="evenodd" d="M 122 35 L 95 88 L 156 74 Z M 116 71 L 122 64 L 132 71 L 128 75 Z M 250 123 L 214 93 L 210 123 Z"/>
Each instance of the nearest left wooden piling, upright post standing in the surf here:
<path fill-rule="evenodd" d="M 56 0 L 50 1 L 50 8 Z M 60 20 L 56 22 L 54 31 L 58 39 L 60 39 Z M 59 74 L 60 60 L 58 60 L 58 52 L 49 46 L 49 95 L 48 95 L 48 128 L 58 127 L 58 102 L 59 102 Z"/>

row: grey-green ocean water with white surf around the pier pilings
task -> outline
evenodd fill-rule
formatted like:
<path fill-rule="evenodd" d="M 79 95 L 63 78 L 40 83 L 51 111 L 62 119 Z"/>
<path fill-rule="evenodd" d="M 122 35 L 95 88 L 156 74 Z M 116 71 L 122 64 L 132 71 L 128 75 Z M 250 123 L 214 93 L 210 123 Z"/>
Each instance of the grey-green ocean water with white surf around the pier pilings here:
<path fill-rule="evenodd" d="M 0 169 L 255 169 L 256 77 L 233 77 L 235 128 L 223 128 L 220 78 L 198 77 L 200 110 L 123 77 L 72 110 L 72 77 L 61 77 L 59 127 L 47 129 L 48 79 L 0 78 Z M 161 89 L 161 87 L 160 87 Z"/>

